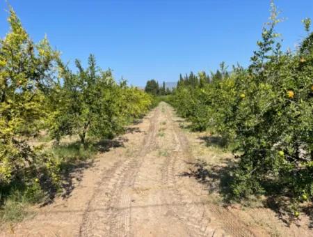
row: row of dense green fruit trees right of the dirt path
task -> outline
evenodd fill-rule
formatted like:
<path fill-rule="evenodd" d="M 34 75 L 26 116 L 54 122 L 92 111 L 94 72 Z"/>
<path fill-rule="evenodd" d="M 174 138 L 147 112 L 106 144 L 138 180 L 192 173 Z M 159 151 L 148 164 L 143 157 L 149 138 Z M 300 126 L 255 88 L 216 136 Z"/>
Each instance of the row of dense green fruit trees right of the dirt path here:
<path fill-rule="evenodd" d="M 313 199 L 313 33 L 303 20 L 307 37 L 283 52 L 277 15 L 272 4 L 248 68 L 181 77 L 170 101 L 194 130 L 220 135 L 239 154 L 227 198 L 273 194 L 296 206 Z"/>

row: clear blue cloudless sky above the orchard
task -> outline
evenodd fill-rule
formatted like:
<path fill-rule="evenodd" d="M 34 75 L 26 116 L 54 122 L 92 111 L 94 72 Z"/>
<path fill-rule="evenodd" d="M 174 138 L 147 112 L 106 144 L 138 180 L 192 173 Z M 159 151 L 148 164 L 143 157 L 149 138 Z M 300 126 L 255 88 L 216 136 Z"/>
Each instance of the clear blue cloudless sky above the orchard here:
<path fill-rule="evenodd" d="M 179 73 L 216 70 L 220 61 L 247 66 L 269 0 L 10 0 L 31 37 L 45 33 L 65 61 L 95 54 L 115 79 L 143 86 L 147 79 L 176 81 Z M 277 0 L 287 20 L 278 31 L 294 48 L 313 18 L 312 0 Z M 0 36 L 8 31 L 0 0 Z"/>

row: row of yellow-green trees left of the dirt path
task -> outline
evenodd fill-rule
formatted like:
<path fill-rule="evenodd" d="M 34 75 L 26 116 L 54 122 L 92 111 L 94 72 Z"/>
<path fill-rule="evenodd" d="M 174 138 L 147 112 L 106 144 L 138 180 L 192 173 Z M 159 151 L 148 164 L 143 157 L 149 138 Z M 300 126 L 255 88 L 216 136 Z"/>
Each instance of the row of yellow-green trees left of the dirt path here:
<path fill-rule="evenodd" d="M 65 135 L 112 138 L 150 108 L 152 98 L 116 83 L 90 55 L 77 72 L 61 61 L 47 38 L 33 43 L 10 9 L 10 31 L 0 40 L 0 199 L 12 187 L 24 192 L 56 188 L 60 160 L 29 139 L 45 130 L 56 143 Z M 34 188 L 35 187 L 35 188 Z"/>

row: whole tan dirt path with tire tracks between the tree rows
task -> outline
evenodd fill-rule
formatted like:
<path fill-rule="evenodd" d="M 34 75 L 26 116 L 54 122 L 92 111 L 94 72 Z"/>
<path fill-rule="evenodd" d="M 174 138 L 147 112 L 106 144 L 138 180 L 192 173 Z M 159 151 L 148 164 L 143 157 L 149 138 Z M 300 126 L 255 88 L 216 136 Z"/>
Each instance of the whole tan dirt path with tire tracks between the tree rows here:
<path fill-rule="evenodd" d="M 188 139 L 164 102 L 99 154 L 67 199 L 39 208 L 2 236 L 265 236 L 211 204 L 183 174 L 193 161 Z M 14 234 L 13 234 L 14 233 Z"/>

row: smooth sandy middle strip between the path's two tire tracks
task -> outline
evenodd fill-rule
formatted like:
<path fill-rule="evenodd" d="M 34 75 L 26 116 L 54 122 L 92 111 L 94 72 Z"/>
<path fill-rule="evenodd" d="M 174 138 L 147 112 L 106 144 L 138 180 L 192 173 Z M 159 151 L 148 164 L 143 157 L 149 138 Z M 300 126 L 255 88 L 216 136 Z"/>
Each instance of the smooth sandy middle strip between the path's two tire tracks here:
<path fill-rule="evenodd" d="M 131 186 L 131 236 L 191 236 L 185 224 L 173 215 L 171 206 L 181 205 L 173 202 L 168 193 L 169 188 L 163 184 L 162 167 L 168 160 L 166 148 L 172 145 L 168 142 L 163 146 L 162 141 L 166 131 L 166 116 L 163 107 L 159 105 L 161 113 L 158 116 L 154 146 L 145 154 L 141 168 Z M 169 196 L 170 195 L 170 196 Z M 164 197 L 169 196 L 168 199 Z"/>

